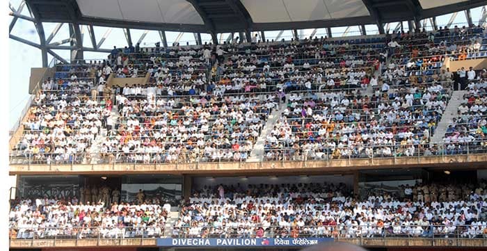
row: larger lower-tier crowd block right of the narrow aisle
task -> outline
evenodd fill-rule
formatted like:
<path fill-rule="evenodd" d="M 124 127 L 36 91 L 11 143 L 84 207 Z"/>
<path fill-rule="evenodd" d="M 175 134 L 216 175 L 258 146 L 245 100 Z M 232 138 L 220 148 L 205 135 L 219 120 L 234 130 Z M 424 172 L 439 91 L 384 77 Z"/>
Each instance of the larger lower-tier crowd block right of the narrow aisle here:
<path fill-rule="evenodd" d="M 485 188 L 416 184 L 356 200 L 344 184 L 205 187 L 183 204 L 173 236 L 477 238 L 487 234 Z"/>

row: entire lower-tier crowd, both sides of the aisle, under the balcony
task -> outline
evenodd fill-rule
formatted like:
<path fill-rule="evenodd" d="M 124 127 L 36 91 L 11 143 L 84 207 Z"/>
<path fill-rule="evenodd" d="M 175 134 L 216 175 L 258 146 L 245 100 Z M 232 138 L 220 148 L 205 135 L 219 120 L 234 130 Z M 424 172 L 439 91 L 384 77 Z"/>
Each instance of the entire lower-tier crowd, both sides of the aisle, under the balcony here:
<path fill-rule="evenodd" d="M 346 184 L 205 186 L 170 204 L 157 198 L 105 204 L 77 197 L 10 201 L 10 238 L 481 238 L 487 234 L 487 187 L 416 183 L 353 197 Z M 92 194 L 93 195 L 93 194 Z M 166 235 L 170 233 L 169 235 Z"/>

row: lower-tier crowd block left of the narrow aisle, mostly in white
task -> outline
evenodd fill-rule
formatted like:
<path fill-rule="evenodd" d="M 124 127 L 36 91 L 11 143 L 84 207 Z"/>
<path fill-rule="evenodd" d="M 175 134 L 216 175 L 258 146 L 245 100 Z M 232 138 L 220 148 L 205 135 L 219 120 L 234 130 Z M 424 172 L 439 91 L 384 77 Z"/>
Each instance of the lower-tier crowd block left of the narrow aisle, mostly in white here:
<path fill-rule="evenodd" d="M 134 238 L 163 235 L 170 205 L 80 202 L 77 197 L 10 202 L 10 238 Z"/>

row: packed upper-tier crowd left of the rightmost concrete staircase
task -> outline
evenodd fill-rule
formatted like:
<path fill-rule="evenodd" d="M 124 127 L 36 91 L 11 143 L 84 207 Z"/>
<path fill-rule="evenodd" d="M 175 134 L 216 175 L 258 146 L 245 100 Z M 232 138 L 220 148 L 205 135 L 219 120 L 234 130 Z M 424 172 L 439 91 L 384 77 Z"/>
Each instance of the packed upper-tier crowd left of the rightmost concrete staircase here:
<path fill-rule="evenodd" d="M 245 161 L 285 104 L 264 159 L 445 153 L 429 144 L 454 82 L 440 67 L 456 55 L 449 45 L 478 44 L 483 32 L 114 48 L 109 60 L 56 66 L 14 150 L 49 164 Z M 472 72 L 458 70 L 459 81 L 471 82 Z M 150 81 L 108 87 L 112 73 L 149 73 Z M 95 139 L 102 143 L 91 149 Z"/>

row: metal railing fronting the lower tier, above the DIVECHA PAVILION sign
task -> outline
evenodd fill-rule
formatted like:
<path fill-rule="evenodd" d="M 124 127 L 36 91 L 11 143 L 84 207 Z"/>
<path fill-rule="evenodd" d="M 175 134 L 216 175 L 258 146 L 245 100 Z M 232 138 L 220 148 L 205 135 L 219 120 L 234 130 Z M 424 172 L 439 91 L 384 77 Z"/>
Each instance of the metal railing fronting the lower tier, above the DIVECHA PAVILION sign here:
<path fill-rule="evenodd" d="M 404 223 L 404 222 L 403 222 Z M 269 226 L 260 223 L 229 223 L 215 227 L 207 222 L 193 227 L 134 225 L 113 227 L 10 227 L 9 237 L 24 240 L 120 239 L 120 238 L 431 238 L 486 239 L 486 228 L 475 225 L 405 225 L 395 222 L 365 225 L 294 225 Z"/>

